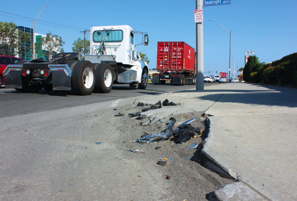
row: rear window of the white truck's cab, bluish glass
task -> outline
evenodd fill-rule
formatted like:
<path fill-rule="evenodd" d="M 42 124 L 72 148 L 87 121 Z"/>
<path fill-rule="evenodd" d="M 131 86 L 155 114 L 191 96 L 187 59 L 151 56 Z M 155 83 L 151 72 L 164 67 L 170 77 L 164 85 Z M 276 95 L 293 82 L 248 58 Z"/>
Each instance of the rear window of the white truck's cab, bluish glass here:
<path fill-rule="evenodd" d="M 104 32 L 104 36 L 103 36 Z M 105 31 L 94 31 L 93 32 L 93 41 L 101 42 L 103 40 L 105 42 L 108 41 L 122 41 L 123 40 L 123 31 L 122 30 L 105 30 Z"/>

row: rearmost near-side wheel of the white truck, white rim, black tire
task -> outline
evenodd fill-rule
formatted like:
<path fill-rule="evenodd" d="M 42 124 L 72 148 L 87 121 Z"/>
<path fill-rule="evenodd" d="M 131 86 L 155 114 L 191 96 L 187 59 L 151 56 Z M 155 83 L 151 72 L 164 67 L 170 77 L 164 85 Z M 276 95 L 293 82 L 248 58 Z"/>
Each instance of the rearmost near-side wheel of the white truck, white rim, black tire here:
<path fill-rule="evenodd" d="M 90 61 L 78 61 L 72 71 L 71 83 L 78 95 L 90 95 L 95 87 L 95 71 Z"/>

